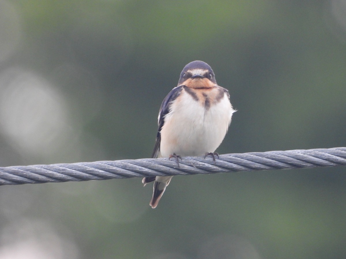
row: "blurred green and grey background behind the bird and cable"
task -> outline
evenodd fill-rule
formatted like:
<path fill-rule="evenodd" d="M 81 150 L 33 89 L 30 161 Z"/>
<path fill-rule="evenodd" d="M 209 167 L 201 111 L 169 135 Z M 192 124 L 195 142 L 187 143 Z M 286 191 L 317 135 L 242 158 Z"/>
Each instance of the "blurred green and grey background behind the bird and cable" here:
<path fill-rule="evenodd" d="M 185 64 L 222 153 L 346 146 L 346 1 L 0 1 L 0 166 L 149 157 Z M 0 187 L 0 258 L 345 258 L 346 169 Z"/>

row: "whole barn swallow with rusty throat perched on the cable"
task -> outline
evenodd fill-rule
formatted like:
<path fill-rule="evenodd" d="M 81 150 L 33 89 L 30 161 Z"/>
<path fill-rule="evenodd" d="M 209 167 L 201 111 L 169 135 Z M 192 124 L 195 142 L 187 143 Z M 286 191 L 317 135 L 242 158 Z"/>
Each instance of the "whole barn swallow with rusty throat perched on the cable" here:
<path fill-rule="evenodd" d="M 152 158 L 212 155 L 224 139 L 235 112 L 228 90 L 218 86 L 211 67 L 192 61 L 180 73 L 178 85 L 164 98 L 158 114 L 158 130 Z M 172 176 L 145 177 L 154 181 L 150 201 L 156 208 Z"/>

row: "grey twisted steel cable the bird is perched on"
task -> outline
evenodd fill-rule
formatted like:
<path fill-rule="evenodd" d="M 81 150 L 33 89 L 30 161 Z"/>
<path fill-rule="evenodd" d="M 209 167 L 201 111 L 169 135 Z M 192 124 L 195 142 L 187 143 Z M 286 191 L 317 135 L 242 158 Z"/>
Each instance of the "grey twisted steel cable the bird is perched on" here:
<path fill-rule="evenodd" d="M 179 166 L 167 158 L 8 166 L 0 167 L 0 185 L 342 165 L 346 165 L 346 147 L 225 154 L 215 163 L 210 157 L 188 156 Z"/>

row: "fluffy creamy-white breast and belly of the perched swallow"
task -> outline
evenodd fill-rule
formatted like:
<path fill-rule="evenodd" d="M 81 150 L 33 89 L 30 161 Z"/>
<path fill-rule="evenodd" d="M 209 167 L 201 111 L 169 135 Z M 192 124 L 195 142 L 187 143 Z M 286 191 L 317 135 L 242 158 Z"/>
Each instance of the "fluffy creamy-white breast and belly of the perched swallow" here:
<path fill-rule="evenodd" d="M 161 156 L 168 157 L 173 153 L 199 156 L 214 152 L 227 133 L 233 113 L 226 94 L 207 110 L 183 90 L 165 116 L 161 130 Z"/>

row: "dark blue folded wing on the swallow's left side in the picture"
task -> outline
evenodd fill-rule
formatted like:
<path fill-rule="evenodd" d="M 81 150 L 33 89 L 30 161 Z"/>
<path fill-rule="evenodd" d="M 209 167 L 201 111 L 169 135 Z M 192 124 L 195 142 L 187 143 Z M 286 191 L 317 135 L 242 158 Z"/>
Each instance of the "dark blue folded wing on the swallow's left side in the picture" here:
<path fill-rule="evenodd" d="M 171 103 L 178 97 L 181 93 L 183 86 L 177 86 L 174 87 L 169 94 L 163 99 L 159 117 L 158 117 L 158 129 L 157 129 L 157 135 L 156 135 L 156 143 L 154 146 L 152 158 L 156 158 L 158 153 L 160 152 L 160 144 L 161 144 L 161 129 L 164 124 L 164 116 L 169 113 L 169 107 Z"/>

